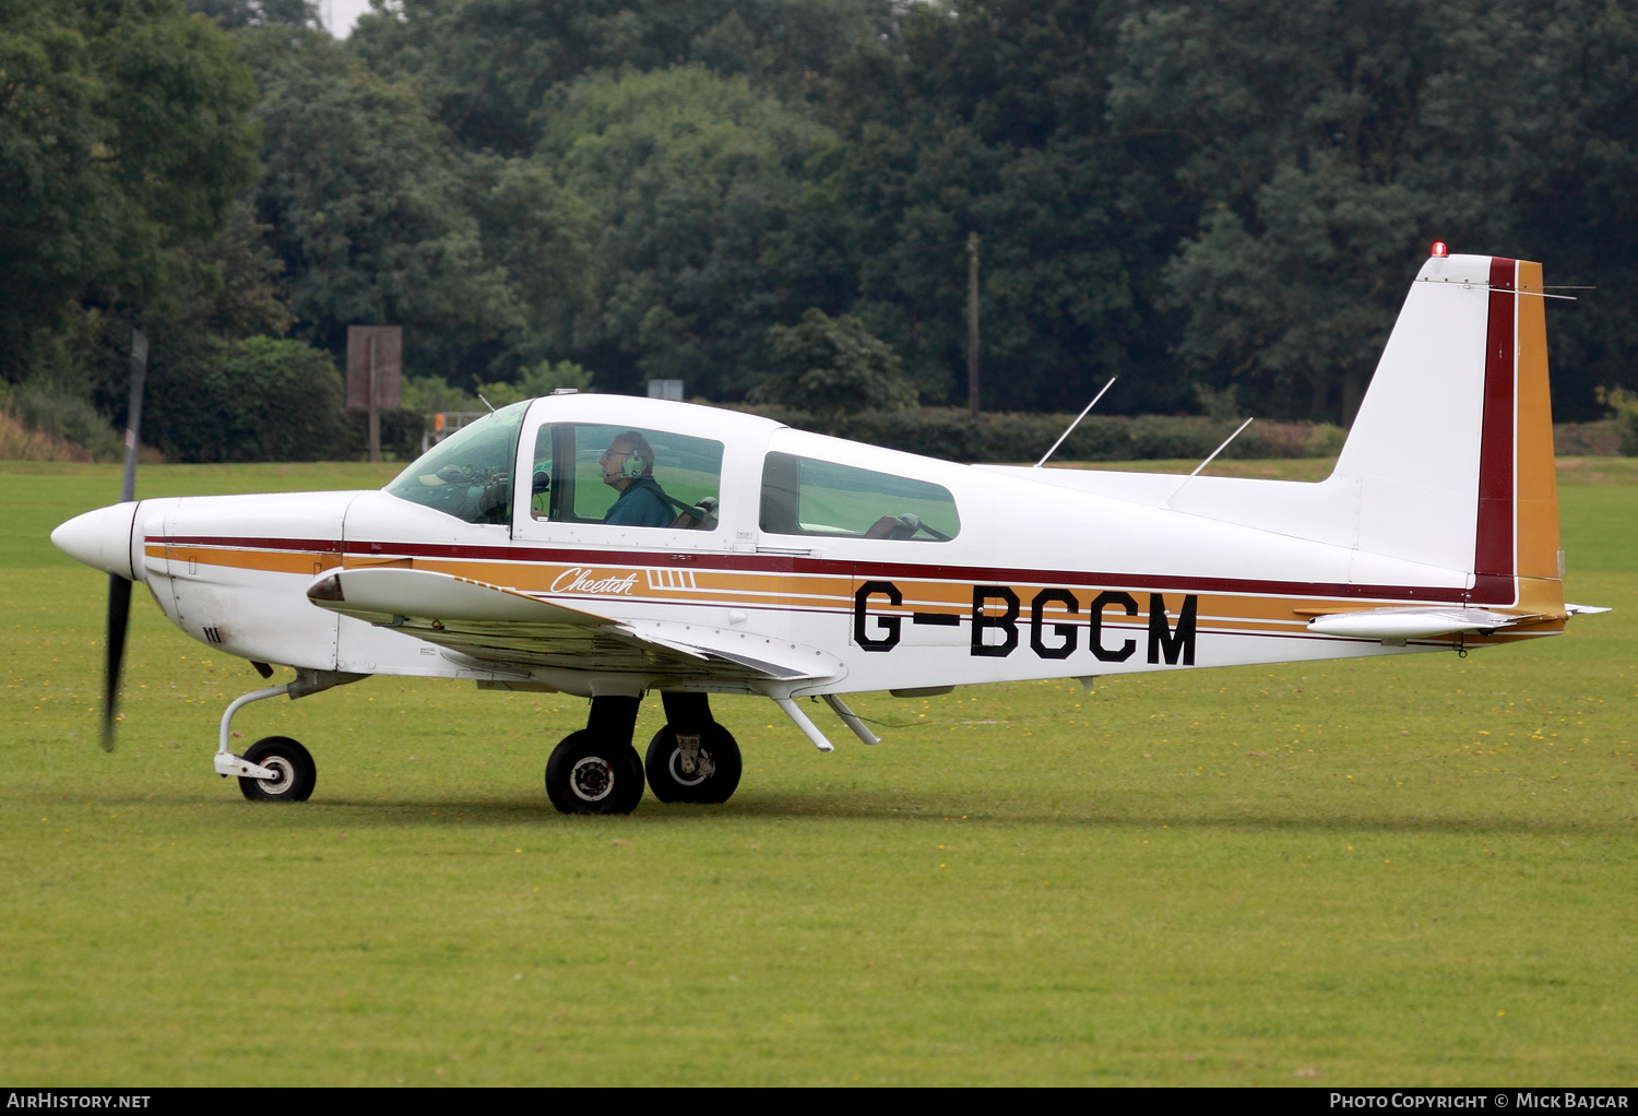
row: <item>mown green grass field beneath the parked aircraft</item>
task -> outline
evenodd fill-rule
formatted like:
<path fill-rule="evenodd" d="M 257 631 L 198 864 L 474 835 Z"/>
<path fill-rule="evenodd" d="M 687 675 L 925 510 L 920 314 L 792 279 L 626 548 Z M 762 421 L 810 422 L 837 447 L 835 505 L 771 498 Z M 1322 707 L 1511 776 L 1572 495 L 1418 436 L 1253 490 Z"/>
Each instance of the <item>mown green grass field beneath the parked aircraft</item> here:
<path fill-rule="evenodd" d="M 144 593 L 102 754 L 106 578 L 46 533 L 116 469 L 0 465 L 0 1080 L 1631 1085 L 1638 470 L 1561 465 L 1617 606 L 1563 639 L 863 695 L 832 755 L 717 698 L 735 798 L 629 818 L 545 800 L 585 701 L 396 678 L 249 706 L 319 764 L 251 805 L 210 752 L 262 682 Z"/>

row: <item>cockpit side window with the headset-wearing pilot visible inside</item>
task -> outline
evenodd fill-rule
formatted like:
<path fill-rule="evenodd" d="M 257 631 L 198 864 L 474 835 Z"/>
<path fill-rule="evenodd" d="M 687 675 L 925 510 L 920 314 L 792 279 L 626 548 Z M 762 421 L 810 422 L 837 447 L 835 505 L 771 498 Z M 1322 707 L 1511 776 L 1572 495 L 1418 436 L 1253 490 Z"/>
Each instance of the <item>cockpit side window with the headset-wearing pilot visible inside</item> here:
<path fill-rule="evenodd" d="M 529 515 L 560 523 L 714 529 L 722 442 L 662 429 L 552 423 L 534 442 Z"/>

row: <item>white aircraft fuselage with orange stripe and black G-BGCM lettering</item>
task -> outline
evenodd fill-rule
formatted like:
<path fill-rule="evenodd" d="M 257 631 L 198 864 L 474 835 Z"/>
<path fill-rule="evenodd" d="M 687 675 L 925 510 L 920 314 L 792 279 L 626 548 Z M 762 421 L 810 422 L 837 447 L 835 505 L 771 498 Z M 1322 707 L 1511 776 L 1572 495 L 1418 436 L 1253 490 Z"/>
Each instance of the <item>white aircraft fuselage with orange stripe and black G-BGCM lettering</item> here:
<path fill-rule="evenodd" d="M 1050 475 L 1060 470 L 955 465 L 624 397 L 550 397 L 508 411 L 509 451 L 473 439 L 475 459 L 457 460 L 459 446 L 446 442 L 388 490 L 144 500 L 70 521 L 54 539 L 144 582 L 182 631 L 244 659 L 585 693 L 606 672 L 595 652 L 585 662 L 473 659 L 316 608 L 306 590 L 336 569 L 434 570 L 611 626 L 699 626 L 839 664 L 794 693 L 1404 654 L 1563 628 L 1559 595 L 1556 616 L 1486 637 L 1392 646 L 1310 631 L 1314 616 L 1382 606 L 1554 610 L 1517 590 L 1482 600 L 1471 570 L 1152 498 L 1171 482 L 1119 498 L 1065 487 Z M 672 526 L 598 518 L 611 493 L 598 492 L 586 459 L 606 431 L 627 428 L 657 442 L 655 477 L 685 493 L 678 506 L 706 493 L 709 515 L 680 511 Z M 1315 488 L 1289 485 L 1283 498 L 1301 506 L 1322 497 Z M 663 664 L 621 669 L 642 675 L 636 688 L 744 688 L 672 677 Z"/>

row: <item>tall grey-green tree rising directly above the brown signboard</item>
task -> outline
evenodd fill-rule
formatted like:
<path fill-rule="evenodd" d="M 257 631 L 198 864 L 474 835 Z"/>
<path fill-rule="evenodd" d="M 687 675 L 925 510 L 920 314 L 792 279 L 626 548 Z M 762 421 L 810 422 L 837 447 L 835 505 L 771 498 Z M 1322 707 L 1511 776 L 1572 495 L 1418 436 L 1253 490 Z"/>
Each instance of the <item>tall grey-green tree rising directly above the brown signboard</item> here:
<path fill-rule="evenodd" d="M 349 324 L 401 323 L 413 364 L 523 324 L 413 84 L 383 80 L 323 33 L 246 31 L 239 46 L 262 85 L 257 206 L 306 338 L 339 351 Z"/>

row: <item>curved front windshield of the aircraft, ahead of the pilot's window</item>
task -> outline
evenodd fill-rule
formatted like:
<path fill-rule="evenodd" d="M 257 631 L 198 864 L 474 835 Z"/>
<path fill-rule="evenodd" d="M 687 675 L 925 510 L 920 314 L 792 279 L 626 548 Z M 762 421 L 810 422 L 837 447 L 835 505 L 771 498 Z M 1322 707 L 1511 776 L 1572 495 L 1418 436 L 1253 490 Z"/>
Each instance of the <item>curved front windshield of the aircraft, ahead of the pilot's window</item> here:
<path fill-rule="evenodd" d="M 387 485 L 391 495 L 467 523 L 511 523 L 511 480 L 518 431 L 529 400 L 503 406 L 465 426 Z"/>

